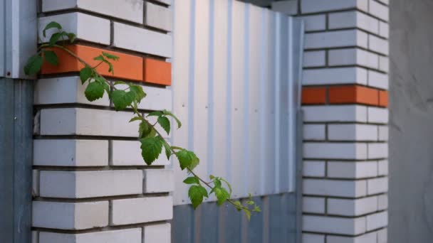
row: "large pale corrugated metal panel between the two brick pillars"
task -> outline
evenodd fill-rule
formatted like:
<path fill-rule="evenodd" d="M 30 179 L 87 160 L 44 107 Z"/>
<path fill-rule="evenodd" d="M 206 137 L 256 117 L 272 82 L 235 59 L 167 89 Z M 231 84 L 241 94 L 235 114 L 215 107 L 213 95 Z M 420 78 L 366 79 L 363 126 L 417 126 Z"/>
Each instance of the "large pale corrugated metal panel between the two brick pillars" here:
<path fill-rule="evenodd" d="M 173 144 L 196 172 L 231 181 L 234 197 L 293 191 L 301 23 L 232 0 L 174 3 Z M 189 202 L 174 165 L 174 204 Z M 214 198 L 210 198 L 213 200 Z"/>

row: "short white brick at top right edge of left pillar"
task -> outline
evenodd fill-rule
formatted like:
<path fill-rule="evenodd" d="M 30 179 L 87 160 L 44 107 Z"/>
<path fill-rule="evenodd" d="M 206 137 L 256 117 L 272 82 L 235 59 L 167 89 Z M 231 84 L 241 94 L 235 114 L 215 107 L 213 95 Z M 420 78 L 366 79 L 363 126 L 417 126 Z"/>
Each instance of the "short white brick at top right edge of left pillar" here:
<path fill-rule="evenodd" d="M 164 31 L 172 31 L 172 11 L 146 2 L 145 24 Z"/>

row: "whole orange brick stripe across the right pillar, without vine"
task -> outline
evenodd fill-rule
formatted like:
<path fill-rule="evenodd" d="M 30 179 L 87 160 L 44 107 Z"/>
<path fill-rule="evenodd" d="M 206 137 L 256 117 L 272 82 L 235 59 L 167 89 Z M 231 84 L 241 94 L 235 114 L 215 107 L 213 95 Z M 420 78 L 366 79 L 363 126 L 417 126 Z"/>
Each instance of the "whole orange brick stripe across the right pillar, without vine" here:
<path fill-rule="evenodd" d="M 367 104 L 388 106 L 388 92 L 360 85 L 303 87 L 302 104 Z"/>

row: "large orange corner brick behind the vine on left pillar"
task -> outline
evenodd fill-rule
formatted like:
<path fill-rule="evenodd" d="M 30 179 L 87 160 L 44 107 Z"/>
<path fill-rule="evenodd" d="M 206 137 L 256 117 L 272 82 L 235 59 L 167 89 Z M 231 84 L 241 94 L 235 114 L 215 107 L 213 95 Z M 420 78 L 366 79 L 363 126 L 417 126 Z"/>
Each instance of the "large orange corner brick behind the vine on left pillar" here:
<path fill-rule="evenodd" d="M 93 48 L 85 45 L 69 45 L 67 47 L 71 52 L 78 55 L 89 65 L 95 66 L 100 63 L 99 60 L 93 60 L 102 52 L 117 55 L 119 60 L 112 60 L 114 66 L 114 74 L 108 72 L 108 65 L 101 64 L 96 70 L 104 77 L 115 77 L 125 80 L 142 81 L 143 72 L 143 60 L 135 55 L 128 55 L 124 53 L 118 53 L 110 50 L 104 50 L 101 48 Z M 58 66 L 44 63 L 41 69 L 41 74 L 57 74 L 64 72 L 79 72 L 84 67 L 76 58 L 67 53 L 65 50 L 59 48 L 53 48 L 53 51 L 58 56 Z"/>

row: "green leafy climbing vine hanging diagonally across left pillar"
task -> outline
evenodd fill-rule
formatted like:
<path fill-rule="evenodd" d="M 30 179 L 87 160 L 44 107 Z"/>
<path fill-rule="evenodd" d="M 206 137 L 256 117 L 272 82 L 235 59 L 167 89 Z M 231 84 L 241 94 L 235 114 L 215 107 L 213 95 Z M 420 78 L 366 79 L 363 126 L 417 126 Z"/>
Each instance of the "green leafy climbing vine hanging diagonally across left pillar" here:
<path fill-rule="evenodd" d="M 174 119 L 177 129 L 182 126 L 181 121 L 179 121 L 172 112 L 162 110 L 150 112 L 147 116 L 142 115 L 138 111 L 138 104 L 142 102 L 142 99 L 145 99 L 146 93 L 140 85 L 123 81 L 108 82 L 103 75 L 100 75 L 96 70 L 100 65 L 107 65 L 108 72 L 114 74 L 114 65 L 112 62 L 119 60 L 118 56 L 102 52 L 100 55 L 93 58 L 93 60 L 100 61 L 100 63 L 95 66 L 89 65 L 85 60 L 66 48 L 66 45 L 74 43 L 76 37 L 75 33 L 63 31 L 59 23 L 51 22 L 43 29 L 43 37 L 46 37 L 46 31 L 50 29 L 53 30 L 53 33 L 48 43 L 39 45 L 38 52 L 28 59 L 24 67 L 26 75 L 36 75 L 39 70 L 41 70 L 44 62 L 50 63 L 51 65 L 58 65 L 59 60 L 56 52 L 53 51 L 54 48 L 58 48 L 72 55 L 84 66 L 80 70 L 80 80 L 83 85 L 87 85 L 84 95 L 90 102 L 102 98 L 106 92 L 113 102 L 116 111 L 122 111 L 127 108 L 132 109 L 133 117 L 130 119 L 130 122 L 137 121 L 139 123 L 138 139 L 141 143 L 141 155 L 144 162 L 147 165 L 151 165 L 160 156 L 162 148 L 164 148 L 167 159 L 171 156 L 175 156 L 179 161 L 179 166 L 182 171 L 187 170 L 189 172 L 189 177 L 183 182 L 190 185 L 188 196 L 194 209 L 202 204 L 204 198 L 209 198 L 209 195 L 214 193 L 217 205 L 229 202 L 236 207 L 237 210 L 244 211 L 248 220 L 251 218 L 251 213 L 261 212 L 260 207 L 251 200 L 251 195 L 249 200 L 244 204 L 239 200 L 231 199 L 231 185 L 224 178 L 214 175 L 210 175 L 209 180 L 201 178 L 194 172 L 194 168 L 199 165 L 200 161 L 196 154 L 185 148 L 170 146 L 167 141 L 163 139 L 160 131 L 155 129 L 155 125 L 160 124 L 167 134 L 172 130 L 172 124 L 169 118 Z M 149 117 L 155 117 L 156 122 L 152 124 L 148 119 Z"/>

